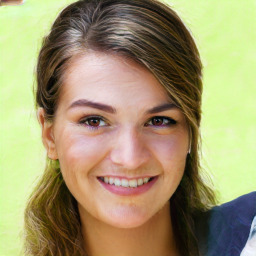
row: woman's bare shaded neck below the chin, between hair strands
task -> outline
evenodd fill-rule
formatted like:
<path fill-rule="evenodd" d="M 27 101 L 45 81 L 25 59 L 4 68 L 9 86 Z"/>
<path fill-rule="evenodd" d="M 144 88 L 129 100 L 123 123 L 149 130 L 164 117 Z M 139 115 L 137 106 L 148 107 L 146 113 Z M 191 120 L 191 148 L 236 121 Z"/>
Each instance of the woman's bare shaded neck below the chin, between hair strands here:
<path fill-rule="evenodd" d="M 178 256 L 169 202 L 145 224 L 116 228 L 80 210 L 84 245 L 89 256 Z"/>

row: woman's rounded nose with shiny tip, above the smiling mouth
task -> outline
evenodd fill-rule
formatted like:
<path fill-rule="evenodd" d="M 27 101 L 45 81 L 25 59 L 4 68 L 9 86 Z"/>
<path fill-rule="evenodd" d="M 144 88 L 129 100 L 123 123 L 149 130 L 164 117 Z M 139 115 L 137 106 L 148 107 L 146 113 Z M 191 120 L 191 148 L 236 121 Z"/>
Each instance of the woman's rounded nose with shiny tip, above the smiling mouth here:
<path fill-rule="evenodd" d="M 127 170 L 137 169 L 150 160 L 147 143 L 135 129 L 127 128 L 114 139 L 110 153 L 111 161 Z"/>

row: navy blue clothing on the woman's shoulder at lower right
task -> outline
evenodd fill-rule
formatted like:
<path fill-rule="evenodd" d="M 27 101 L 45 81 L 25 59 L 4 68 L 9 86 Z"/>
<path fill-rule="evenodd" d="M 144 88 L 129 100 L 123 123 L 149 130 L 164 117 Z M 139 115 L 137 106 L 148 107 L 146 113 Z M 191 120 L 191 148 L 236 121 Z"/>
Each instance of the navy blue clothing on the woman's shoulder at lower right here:
<path fill-rule="evenodd" d="M 251 229 L 255 216 L 256 192 L 241 196 L 201 214 L 196 220 L 201 255 L 240 256 L 247 243 L 250 230 L 251 236 L 255 233 L 254 228 Z M 256 250 L 252 255 L 256 256 Z"/>

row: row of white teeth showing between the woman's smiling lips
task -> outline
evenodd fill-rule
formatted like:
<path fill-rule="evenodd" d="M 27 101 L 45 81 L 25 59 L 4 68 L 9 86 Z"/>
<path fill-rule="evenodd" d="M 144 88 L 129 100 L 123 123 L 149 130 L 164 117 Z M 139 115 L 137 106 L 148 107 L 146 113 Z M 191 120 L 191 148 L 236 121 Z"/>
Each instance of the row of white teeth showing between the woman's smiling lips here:
<path fill-rule="evenodd" d="M 138 179 L 125 179 L 125 178 L 117 178 L 117 177 L 98 177 L 99 180 L 102 182 L 113 185 L 115 187 L 124 187 L 124 188 L 137 188 L 141 187 L 152 180 L 154 180 L 156 176 L 154 177 L 145 177 L 145 178 L 138 178 Z"/>

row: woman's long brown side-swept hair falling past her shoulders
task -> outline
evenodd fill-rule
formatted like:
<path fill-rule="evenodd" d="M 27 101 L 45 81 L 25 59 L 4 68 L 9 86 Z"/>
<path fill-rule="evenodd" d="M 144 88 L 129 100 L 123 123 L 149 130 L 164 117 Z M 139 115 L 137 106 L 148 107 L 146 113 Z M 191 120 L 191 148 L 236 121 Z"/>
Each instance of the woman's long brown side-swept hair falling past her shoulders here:
<path fill-rule="evenodd" d="M 182 181 L 170 199 L 176 243 L 182 255 L 199 255 L 194 215 L 215 204 L 202 180 L 200 133 L 202 64 L 179 16 L 157 0 L 80 0 L 66 7 L 45 36 L 38 57 L 36 107 L 54 121 L 71 58 L 88 50 L 117 54 L 145 66 L 183 111 L 191 152 Z M 77 203 L 58 161 L 48 159 L 25 210 L 26 255 L 86 255 Z"/>

